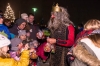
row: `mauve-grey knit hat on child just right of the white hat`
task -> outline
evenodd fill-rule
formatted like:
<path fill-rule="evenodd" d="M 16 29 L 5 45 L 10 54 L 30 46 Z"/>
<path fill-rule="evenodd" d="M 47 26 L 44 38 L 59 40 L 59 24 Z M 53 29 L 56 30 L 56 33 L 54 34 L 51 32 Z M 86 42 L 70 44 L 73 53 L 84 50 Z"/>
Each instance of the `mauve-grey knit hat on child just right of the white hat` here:
<path fill-rule="evenodd" d="M 11 50 L 18 50 L 18 45 L 22 43 L 22 40 L 20 38 L 13 38 L 11 40 Z"/>

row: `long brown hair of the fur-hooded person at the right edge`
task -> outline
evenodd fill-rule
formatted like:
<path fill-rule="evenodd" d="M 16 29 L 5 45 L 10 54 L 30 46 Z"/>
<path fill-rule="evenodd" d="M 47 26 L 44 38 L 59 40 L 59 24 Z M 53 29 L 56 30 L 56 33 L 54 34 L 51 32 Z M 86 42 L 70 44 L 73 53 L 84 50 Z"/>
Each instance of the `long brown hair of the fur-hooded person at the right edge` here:
<path fill-rule="evenodd" d="M 99 47 L 100 48 L 100 34 L 93 34 L 93 35 L 89 35 L 87 36 L 93 43 L 96 47 Z"/>

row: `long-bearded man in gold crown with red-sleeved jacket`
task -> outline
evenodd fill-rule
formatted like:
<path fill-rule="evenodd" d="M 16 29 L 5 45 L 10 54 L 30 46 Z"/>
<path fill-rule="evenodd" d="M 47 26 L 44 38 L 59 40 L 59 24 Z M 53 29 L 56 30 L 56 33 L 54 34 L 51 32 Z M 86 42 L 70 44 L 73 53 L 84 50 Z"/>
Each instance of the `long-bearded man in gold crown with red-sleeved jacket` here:
<path fill-rule="evenodd" d="M 69 19 L 67 9 L 59 7 L 58 4 L 53 7 L 51 18 L 48 23 L 51 31 L 51 37 L 47 42 L 55 43 L 55 54 L 51 54 L 50 66 L 68 66 L 66 62 L 66 53 L 68 47 L 74 43 L 74 26 Z"/>

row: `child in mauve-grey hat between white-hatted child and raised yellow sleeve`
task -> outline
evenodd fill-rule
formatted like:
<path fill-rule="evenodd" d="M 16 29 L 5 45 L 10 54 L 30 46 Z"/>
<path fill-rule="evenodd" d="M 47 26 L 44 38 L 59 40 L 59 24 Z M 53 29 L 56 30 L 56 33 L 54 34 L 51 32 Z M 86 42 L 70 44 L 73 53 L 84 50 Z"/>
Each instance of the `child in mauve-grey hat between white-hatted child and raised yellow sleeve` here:
<path fill-rule="evenodd" d="M 15 60 L 19 61 L 20 58 L 20 50 L 22 49 L 23 44 L 22 40 L 20 38 L 13 38 L 11 40 L 11 51 L 10 51 L 10 56 L 14 58 Z"/>

